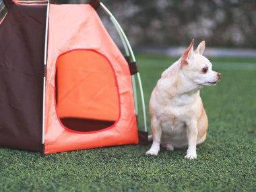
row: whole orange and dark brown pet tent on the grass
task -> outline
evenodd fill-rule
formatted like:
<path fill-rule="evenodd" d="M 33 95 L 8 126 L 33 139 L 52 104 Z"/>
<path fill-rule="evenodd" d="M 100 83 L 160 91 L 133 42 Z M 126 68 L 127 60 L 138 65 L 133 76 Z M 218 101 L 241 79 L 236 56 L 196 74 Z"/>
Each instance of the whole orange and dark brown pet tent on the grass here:
<path fill-rule="evenodd" d="M 100 1 L 92 1 L 88 5 L 54 5 L 49 1 L 24 5 L 22 2 L 4 0 L 8 11 L 1 21 L 0 34 L 6 33 L 9 26 L 13 30 L 9 36 L 0 38 L 0 57 L 4 58 L 0 61 L 0 73 L 10 71 L 12 78 L 20 79 L 20 82 L 24 82 L 22 84 L 32 84 L 26 96 L 20 86 L 16 88 L 13 85 L 11 89 L 24 100 L 34 100 L 34 104 L 31 107 L 30 102 L 26 105 L 16 104 L 15 99 L 6 100 L 9 104 L 0 102 L 0 107 L 3 105 L 8 112 L 0 118 L 0 123 L 5 125 L 0 128 L 0 146 L 51 154 L 138 143 L 131 81 L 131 71 L 137 73 L 136 65 L 133 59 L 130 65 L 133 69 L 129 67 L 95 9 L 102 7 L 110 17 L 113 15 Z M 49 18 L 45 22 L 41 18 L 44 13 Z M 22 14 L 24 17 L 20 18 Z M 19 22 L 20 26 L 15 26 L 15 22 Z M 44 25 L 45 33 L 42 32 Z M 32 26 L 37 28 L 40 36 L 33 37 Z M 118 24 L 115 23 L 115 26 Z M 123 31 L 119 32 L 121 38 L 127 40 Z M 18 33 L 20 36 L 16 36 Z M 46 41 L 42 46 L 44 34 Z M 25 38 L 25 44 L 9 45 L 5 43 L 9 37 L 17 41 Z M 38 44 L 38 49 L 33 49 L 34 44 Z M 20 46 L 17 49 L 17 53 L 18 50 L 21 52 L 19 60 L 6 54 L 12 46 Z M 43 48 L 44 67 L 41 62 Z M 31 57 L 35 59 L 31 60 Z M 11 70 L 23 62 L 24 66 L 19 70 L 24 72 L 16 77 Z M 3 69 L 2 65 L 7 67 Z M 35 79 L 28 79 L 27 73 L 32 69 L 35 70 L 32 73 L 38 75 Z M 0 84 L 7 82 L 4 78 L 5 75 L 0 75 Z M 10 89 L 9 84 L 4 86 Z M 43 93 L 42 90 L 38 93 L 38 89 L 42 89 Z M 3 92 L 0 98 L 7 98 L 8 94 L 10 92 Z M 39 94 L 42 97 L 38 97 Z M 10 108 L 14 106 L 11 102 L 16 104 L 15 108 Z M 20 123 L 13 126 L 13 123 L 6 121 L 10 119 L 8 115 L 11 115 L 12 121 L 19 119 Z M 30 115 L 34 115 L 34 121 Z M 9 141 L 10 137 L 12 140 L 17 138 L 15 143 Z"/>

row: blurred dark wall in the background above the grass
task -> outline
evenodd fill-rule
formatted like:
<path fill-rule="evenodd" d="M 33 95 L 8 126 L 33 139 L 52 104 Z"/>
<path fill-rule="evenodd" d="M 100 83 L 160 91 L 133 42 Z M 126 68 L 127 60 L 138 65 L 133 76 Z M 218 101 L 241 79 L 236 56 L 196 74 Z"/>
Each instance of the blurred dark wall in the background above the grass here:
<path fill-rule="evenodd" d="M 256 0 L 102 2 L 113 12 L 133 46 L 181 46 L 195 38 L 216 47 L 256 48 Z M 88 1 L 59 0 L 57 3 Z M 106 18 L 102 20 L 111 26 Z"/>

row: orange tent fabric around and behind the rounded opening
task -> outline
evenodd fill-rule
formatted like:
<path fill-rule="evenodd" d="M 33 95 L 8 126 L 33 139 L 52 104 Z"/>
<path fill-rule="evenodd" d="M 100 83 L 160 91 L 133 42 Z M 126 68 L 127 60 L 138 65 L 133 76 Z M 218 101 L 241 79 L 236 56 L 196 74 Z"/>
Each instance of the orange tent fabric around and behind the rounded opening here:
<path fill-rule="evenodd" d="M 138 143 L 129 67 L 106 32 L 96 11 L 90 5 L 50 5 L 49 18 L 44 153 Z M 75 58 L 78 58 L 77 61 Z M 95 64 L 98 61 L 100 64 Z M 88 71 L 80 71 L 77 75 L 73 75 L 76 78 L 74 80 L 72 75 L 67 75 L 69 79 L 72 79 L 71 82 L 65 82 L 67 81 L 65 76 L 62 77 L 63 79 L 57 78 L 56 81 L 56 71 L 58 73 L 65 71 L 67 74 L 71 72 L 69 69 L 64 69 L 65 65 L 69 64 L 76 67 L 84 64 L 83 70 L 98 70 L 96 73 L 98 77 L 92 78 L 94 81 L 90 84 L 86 78 L 82 77 L 88 74 Z M 94 67 L 90 67 L 94 64 Z M 64 68 L 61 69 L 61 67 Z M 102 71 L 100 72 L 99 69 Z M 113 74 L 113 77 L 105 79 L 105 86 L 103 88 L 100 86 L 102 94 L 98 95 L 98 100 L 100 100 L 98 106 L 90 108 L 90 104 L 86 104 L 81 98 L 84 96 L 84 100 L 90 99 L 92 103 L 96 103 L 92 100 L 92 95 L 95 96 L 98 93 L 96 91 L 97 79 L 100 84 L 104 82 L 104 78 L 100 80 L 100 76 L 104 75 L 104 72 L 110 74 L 108 77 Z M 79 81 L 84 82 L 87 85 L 86 88 L 90 89 L 87 95 L 83 91 L 76 92 L 72 88 L 72 82 L 74 82 L 73 85 L 79 85 Z M 56 87 L 56 83 L 58 83 L 58 87 Z M 115 86 L 108 88 L 109 84 L 115 84 Z M 56 88 L 61 89 L 58 90 L 60 93 L 58 96 L 55 94 Z M 72 90 L 70 93 L 69 88 Z M 68 102 L 74 102 L 74 100 L 76 102 L 69 104 L 66 102 L 65 105 L 62 105 L 61 99 L 65 99 L 65 93 L 69 95 Z M 82 94 L 82 97 L 79 94 Z M 108 102 L 108 98 L 112 98 L 112 102 Z M 79 106 L 75 105 L 77 103 Z M 100 110 L 102 114 L 97 114 L 100 105 L 103 105 L 104 108 L 106 104 L 113 109 L 113 113 L 109 110 Z M 73 108 L 75 109 L 73 110 Z M 71 112 L 70 109 L 73 111 Z M 60 120 L 61 117 L 72 115 L 88 119 L 100 118 L 115 121 L 115 123 L 98 131 L 74 131 L 65 127 Z"/>

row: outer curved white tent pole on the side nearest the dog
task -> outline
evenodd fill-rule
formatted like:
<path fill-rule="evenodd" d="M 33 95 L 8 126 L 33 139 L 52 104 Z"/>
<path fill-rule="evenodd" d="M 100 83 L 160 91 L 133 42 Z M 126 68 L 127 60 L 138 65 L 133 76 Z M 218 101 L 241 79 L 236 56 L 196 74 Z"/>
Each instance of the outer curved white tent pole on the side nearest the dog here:
<path fill-rule="evenodd" d="M 102 7 L 102 9 L 106 12 L 106 14 L 109 16 L 110 20 L 115 23 L 114 25 L 117 26 L 117 28 L 119 28 L 127 46 L 129 49 L 129 53 L 131 54 L 131 59 L 133 62 L 136 61 L 135 56 L 133 54 L 133 50 L 131 49 L 131 45 L 129 44 L 129 41 L 127 39 L 127 36 L 125 35 L 125 32 L 123 32 L 123 29 L 121 28 L 121 26 L 119 25 L 119 22 L 117 22 L 117 20 L 115 19 L 114 15 L 106 8 L 106 6 L 100 2 L 100 7 Z M 137 73 L 137 79 L 139 82 L 139 90 L 141 93 L 141 102 L 142 102 L 142 108 L 143 108 L 143 119 L 144 119 L 144 130 L 147 132 L 147 120 L 146 120 L 146 108 L 145 108 L 145 101 L 144 101 L 144 96 L 143 96 L 143 88 L 142 88 L 142 84 L 141 84 L 141 78 L 139 73 Z"/>

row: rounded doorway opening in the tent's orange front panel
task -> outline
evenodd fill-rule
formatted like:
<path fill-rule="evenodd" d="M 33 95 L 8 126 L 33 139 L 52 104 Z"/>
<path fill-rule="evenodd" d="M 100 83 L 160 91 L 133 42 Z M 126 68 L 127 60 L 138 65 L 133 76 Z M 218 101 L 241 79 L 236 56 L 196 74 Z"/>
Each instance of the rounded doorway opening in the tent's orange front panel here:
<path fill-rule="evenodd" d="M 55 100 L 63 127 L 99 131 L 120 116 L 119 90 L 113 67 L 93 50 L 73 50 L 57 59 Z"/>

